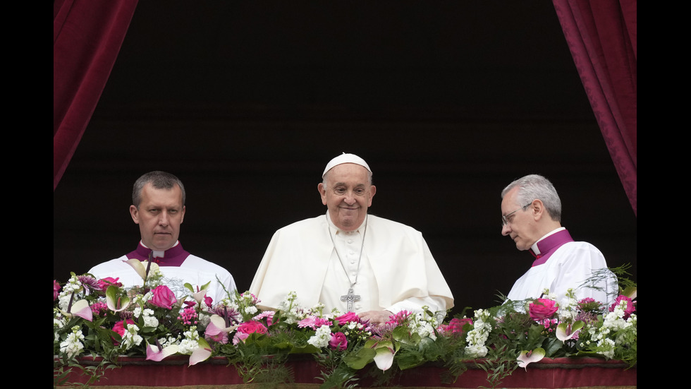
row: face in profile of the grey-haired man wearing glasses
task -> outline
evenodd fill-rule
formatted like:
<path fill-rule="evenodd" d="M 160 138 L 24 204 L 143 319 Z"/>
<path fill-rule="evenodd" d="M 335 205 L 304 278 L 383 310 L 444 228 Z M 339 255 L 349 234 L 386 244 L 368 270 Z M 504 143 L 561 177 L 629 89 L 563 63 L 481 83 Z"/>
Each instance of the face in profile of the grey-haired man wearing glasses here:
<path fill-rule="evenodd" d="M 501 200 L 501 215 L 508 222 L 501 227 L 501 234 L 510 237 L 516 249 L 527 250 L 539 239 L 532 207 L 521 208 L 525 204 L 516 201 L 518 187 L 511 189 Z M 515 211 L 515 212 L 514 212 Z"/>

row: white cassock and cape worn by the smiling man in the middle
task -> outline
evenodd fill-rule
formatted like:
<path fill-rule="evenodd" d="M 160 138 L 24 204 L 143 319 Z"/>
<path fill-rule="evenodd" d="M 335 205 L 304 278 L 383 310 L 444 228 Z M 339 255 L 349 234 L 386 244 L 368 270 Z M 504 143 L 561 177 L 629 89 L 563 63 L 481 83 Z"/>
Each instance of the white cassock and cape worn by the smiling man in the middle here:
<path fill-rule="evenodd" d="M 277 309 L 288 292 L 295 292 L 302 307 L 322 302 L 325 312 L 345 313 L 341 297 L 356 280 L 353 293 L 360 300 L 350 311 L 415 312 L 428 306 L 435 312 L 453 307 L 451 289 L 422 234 L 374 215 L 367 215 L 354 232 L 339 230 L 328 213 L 279 229 L 250 292 L 261 300 L 262 309 Z"/>

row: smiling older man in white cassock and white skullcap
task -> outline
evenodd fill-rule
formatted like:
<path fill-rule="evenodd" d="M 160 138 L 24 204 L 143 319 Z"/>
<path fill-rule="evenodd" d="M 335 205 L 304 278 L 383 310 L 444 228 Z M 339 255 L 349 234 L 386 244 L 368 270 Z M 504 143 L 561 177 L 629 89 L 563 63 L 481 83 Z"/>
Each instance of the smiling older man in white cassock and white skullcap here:
<path fill-rule="evenodd" d="M 362 158 L 339 155 L 317 188 L 326 214 L 276 231 L 250 292 L 276 309 L 288 292 L 300 306 L 356 312 L 383 323 L 400 311 L 446 311 L 453 297 L 422 234 L 368 215 L 377 188 Z"/>

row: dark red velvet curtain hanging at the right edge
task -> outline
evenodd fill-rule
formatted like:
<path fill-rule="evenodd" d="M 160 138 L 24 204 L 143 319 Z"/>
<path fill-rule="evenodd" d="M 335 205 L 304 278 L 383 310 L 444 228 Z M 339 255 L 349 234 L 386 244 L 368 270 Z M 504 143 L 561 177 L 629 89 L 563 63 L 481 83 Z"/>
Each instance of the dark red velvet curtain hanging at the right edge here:
<path fill-rule="evenodd" d="M 637 0 L 553 0 L 609 154 L 637 215 Z"/>

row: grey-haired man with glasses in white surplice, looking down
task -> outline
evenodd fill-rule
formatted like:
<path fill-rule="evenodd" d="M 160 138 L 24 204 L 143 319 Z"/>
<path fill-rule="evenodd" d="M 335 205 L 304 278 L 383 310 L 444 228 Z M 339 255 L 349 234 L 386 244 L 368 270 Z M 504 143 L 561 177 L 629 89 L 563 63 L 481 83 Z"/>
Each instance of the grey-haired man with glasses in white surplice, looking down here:
<path fill-rule="evenodd" d="M 537 299 L 544 289 L 557 302 L 574 289 L 578 300 L 592 298 L 608 304 L 616 298 L 616 276 L 597 247 L 574 241 L 561 226 L 561 199 L 551 182 L 538 174 L 513 181 L 501 192 L 501 234 L 534 260 L 516 280 L 507 297 Z"/>

